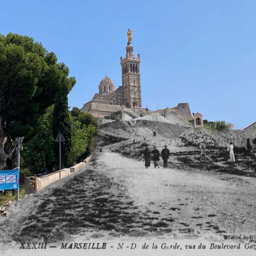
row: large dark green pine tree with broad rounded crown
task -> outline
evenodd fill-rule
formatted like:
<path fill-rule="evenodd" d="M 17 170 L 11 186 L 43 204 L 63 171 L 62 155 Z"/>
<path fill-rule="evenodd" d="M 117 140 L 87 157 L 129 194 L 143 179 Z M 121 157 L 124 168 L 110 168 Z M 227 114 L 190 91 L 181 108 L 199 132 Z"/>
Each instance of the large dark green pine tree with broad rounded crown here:
<path fill-rule="evenodd" d="M 46 109 L 75 83 L 68 67 L 32 37 L 0 34 L 0 145 L 6 137 L 29 141 L 38 133 Z M 0 147 L 0 169 L 6 165 L 6 153 Z"/>

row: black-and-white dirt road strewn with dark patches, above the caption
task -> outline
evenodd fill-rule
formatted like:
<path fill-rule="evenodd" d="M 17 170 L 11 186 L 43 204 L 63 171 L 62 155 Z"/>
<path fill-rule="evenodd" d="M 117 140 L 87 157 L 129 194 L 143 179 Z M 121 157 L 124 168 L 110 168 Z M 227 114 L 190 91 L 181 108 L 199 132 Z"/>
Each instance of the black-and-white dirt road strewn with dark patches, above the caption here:
<path fill-rule="evenodd" d="M 256 179 L 204 171 L 145 169 L 142 161 L 98 152 L 85 171 L 10 208 L 1 241 L 70 236 L 221 239 L 254 234 Z"/>

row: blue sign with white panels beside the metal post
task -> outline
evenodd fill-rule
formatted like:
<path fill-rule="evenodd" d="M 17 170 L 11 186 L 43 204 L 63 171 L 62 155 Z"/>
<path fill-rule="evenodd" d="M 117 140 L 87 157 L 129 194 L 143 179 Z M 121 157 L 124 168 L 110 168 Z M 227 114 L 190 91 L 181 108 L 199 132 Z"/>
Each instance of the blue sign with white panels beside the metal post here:
<path fill-rule="evenodd" d="M 0 171 L 0 190 L 19 189 L 20 170 Z"/>

